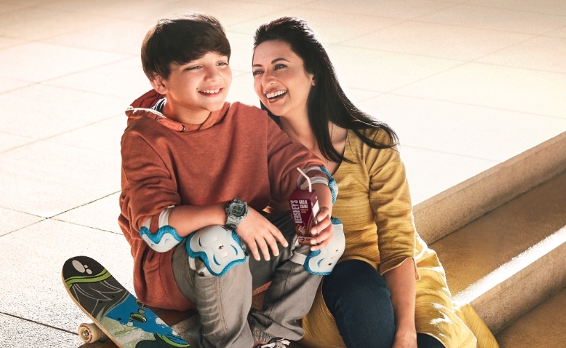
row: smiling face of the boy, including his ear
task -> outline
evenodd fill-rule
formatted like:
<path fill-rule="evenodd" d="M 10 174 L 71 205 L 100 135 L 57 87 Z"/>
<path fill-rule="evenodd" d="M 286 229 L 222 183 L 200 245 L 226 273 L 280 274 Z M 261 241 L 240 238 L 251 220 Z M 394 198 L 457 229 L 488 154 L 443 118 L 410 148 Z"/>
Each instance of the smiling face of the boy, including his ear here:
<path fill-rule="evenodd" d="M 190 124 L 201 124 L 223 107 L 230 83 L 228 57 L 213 52 L 184 65 L 172 63 L 167 80 L 156 76 L 152 81 L 157 92 L 167 96 L 165 108 L 172 115 L 166 116 Z"/>

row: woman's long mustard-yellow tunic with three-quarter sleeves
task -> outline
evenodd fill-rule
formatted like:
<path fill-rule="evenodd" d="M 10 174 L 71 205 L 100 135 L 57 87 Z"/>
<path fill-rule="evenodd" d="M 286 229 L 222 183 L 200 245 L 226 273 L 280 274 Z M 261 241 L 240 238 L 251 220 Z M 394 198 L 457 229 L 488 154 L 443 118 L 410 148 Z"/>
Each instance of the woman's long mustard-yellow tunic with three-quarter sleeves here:
<path fill-rule="evenodd" d="M 387 134 L 362 130 L 367 138 L 387 142 Z M 496 348 L 495 338 L 469 305 L 455 306 L 444 269 L 435 251 L 415 231 L 405 166 L 396 149 L 372 149 L 348 131 L 344 158 L 333 177 L 339 193 L 332 215 L 341 219 L 346 250 L 341 260 L 365 260 L 380 274 L 413 258 L 418 333 L 440 340 L 447 348 Z M 311 311 L 302 319 L 309 348 L 345 348 L 321 288 Z"/>

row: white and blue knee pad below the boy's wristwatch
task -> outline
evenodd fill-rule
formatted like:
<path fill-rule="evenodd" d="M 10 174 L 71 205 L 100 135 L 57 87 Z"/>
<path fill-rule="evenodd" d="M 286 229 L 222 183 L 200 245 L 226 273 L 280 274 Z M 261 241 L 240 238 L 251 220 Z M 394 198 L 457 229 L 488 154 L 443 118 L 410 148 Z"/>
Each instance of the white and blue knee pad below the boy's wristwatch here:
<path fill-rule="evenodd" d="M 186 250 L 189 258 L 200 258 L 213 276 L 223 276 L 246 258 L 240 238 L 225 226 L 207 226 L 191 233 Z"/>

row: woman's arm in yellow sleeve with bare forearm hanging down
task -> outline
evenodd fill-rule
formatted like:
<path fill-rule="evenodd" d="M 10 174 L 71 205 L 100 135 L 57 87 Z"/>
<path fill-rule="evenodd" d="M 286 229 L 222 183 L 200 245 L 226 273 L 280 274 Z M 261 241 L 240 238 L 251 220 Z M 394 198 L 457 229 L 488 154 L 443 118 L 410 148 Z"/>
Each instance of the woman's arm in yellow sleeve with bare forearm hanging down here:
<path fill-rule="evenodd" d="M 383 131 L 374 140 L 387 142 Z M 415 229 L 405 166 L 396 149 L 372 149 L 366 156 L 370 174 L 370 204 L 375 211 L 380 251 L 379 271 L 391 292 L 396 335 L 394 348 L 417 348 L 414 323 Z"/>

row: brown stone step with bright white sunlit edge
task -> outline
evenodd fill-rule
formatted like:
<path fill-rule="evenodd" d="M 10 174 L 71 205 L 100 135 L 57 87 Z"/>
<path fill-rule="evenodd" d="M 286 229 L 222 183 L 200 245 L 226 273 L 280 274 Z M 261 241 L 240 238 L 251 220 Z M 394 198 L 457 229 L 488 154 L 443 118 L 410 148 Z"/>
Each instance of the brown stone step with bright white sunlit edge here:
<path fill-rule="evenodd" d="M 501 331 L 566 285 L 566 172 L 430 247 L 455 300 Z"/>

